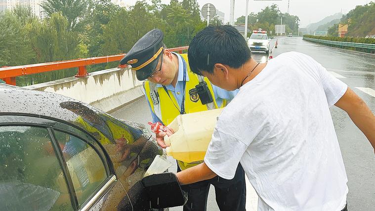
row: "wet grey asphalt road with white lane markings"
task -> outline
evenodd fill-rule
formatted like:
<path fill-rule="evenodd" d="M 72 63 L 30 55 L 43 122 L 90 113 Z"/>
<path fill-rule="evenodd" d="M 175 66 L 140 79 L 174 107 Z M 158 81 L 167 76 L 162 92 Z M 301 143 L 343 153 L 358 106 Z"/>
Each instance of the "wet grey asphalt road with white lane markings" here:
<path fill-rule="evenodd" d="M 271 53 L 273 57 L 288 51 L 298 51 L 310 55 L 326 67 L 334 77 L 348 84 L 375 112 L 374 54 L 330 48 L 303 41 L 300 37 L 275 38 L 271 41 L 271 46 L 276 40 L 278 40 L 278 48 L 273 49 Z M 253 58 L 259 62 L 266 62 L 268 55 L 263 52 L 253 52 Z M 374 211 L 374 151 L 365 135 L 351 122 L 345 112 L 333 106 L 331 113 L 348 176 L 348 210 Z M 112 115 L 143 124 L 151 121 L 150 111 L 144 98 L 125 106 Z M 174 166 L 171 170 L 175 171 L 175 168 Z M 255 192 L 249 183 L 247 190 L 247 210 L 256 210 Z M 171 210 L 182 211 L 182 208 Z M 217 210 L 214 189 L 211 188 L 208 197 L 208 211 Z"/>

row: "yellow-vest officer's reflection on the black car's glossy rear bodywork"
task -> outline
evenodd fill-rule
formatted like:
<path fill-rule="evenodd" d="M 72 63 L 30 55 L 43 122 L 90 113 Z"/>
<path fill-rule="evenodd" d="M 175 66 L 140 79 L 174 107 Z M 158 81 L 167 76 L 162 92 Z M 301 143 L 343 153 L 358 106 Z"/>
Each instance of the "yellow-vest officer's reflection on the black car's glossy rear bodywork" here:
<path fill-rule="evenodd" d="M 141 171 L 133 175 L 135 170 L 141 166 L 139 154 L 147 143 L 141 130 L 128 126 L 126 123 L 117 120 L 103 112 L 91 109 L 81 102 L 66 101 L 60 106 L 77 115 L 74 124 L 79 125 L 95 137 L 109 154 L 116 176 L 127 190 L 128 183 L 133 184 L 141 178 Z M 142 162 L 141 162 L 142 161 Z M 132 176 L 131 176 L 132 175 Z"/>

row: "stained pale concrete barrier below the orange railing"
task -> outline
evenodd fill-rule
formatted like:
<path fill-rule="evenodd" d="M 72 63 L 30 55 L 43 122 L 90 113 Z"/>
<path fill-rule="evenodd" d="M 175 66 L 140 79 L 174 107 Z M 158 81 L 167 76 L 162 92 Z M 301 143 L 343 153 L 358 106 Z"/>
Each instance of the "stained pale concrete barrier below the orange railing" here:
<path fill-rule="evenodd" d="M 88 103 L 105 112 L 115 111 L 143 96 L 142 82 L 130 68 L 112 68 L 25 88 L 48 91 Z"/>

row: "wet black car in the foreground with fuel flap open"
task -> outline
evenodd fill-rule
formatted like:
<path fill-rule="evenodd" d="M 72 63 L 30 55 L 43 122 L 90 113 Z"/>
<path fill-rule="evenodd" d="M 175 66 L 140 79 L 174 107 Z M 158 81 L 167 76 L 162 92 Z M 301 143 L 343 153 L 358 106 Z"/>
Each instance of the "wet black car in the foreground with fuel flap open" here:
<path fill-rule="evenodd" d="M 8 84 L 0 84 L 0 99 L 0 210 L 143 211 L 186 203 L 174 174 L 143 178 L 163 152 L 144 125 Z"/>

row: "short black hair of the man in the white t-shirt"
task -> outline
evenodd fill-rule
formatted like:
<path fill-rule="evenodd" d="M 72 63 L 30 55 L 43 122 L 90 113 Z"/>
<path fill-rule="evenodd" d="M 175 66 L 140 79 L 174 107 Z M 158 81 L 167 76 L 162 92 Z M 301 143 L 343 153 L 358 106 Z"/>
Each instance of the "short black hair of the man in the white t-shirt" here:
<path fill-rule="evenodd" d="M 217 63 L 239 68 L 251 58 L 245 38 L 230 25 L 208 26 L 190 42 L 188 58 L 191 71 L 213 73 Z"/>

